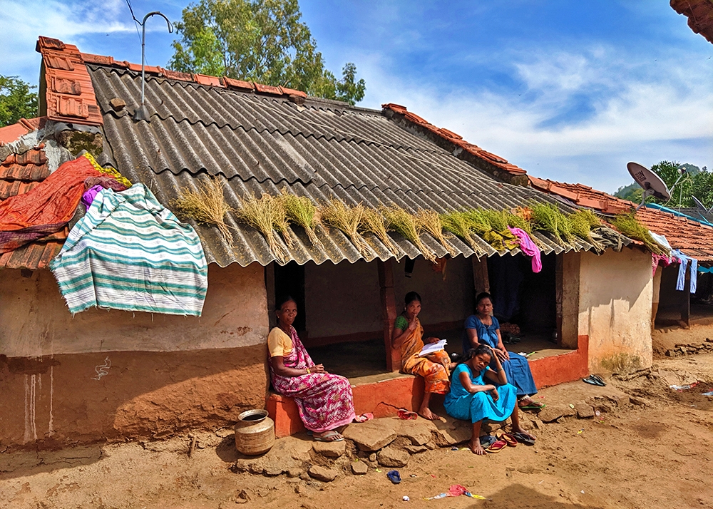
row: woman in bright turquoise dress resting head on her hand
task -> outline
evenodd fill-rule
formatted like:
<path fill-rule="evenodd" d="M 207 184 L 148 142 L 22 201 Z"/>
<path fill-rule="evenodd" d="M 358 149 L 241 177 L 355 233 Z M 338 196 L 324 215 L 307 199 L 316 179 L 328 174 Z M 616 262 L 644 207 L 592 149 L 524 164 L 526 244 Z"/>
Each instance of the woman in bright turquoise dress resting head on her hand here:
<path fill-rule="evenodd" d="M 486 453 L 480 442 L 481 423 L 486 418 L 505 421 L 512 416 L 513 433 L 522 433 L 525 438 L 534 440 L 534 436 L 520 427 L 515 387 L 508 384 L 503 366 L 491 348 L 481 344 L 470 349 L 463 361 L 453 370 L 451 391 L 446 394 L 443 406 L 449 416 L 473 423 L 473 435 L 468 443 L 471 451 L 479 455 Z M 488 367 L 491 361 L 494 361 L 493 369 Z M 486 384 L 484 379 L 491 384 Z"/>

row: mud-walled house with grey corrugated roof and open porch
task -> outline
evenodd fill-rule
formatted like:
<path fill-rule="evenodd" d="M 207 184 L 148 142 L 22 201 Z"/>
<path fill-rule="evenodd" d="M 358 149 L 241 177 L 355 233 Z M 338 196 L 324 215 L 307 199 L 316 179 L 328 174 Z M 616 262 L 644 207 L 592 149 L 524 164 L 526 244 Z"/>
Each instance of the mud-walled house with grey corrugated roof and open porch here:
<path fill-rule="evenodd" d="M 150 118 L 135 121 L 140 66 L 51 38 L 40 38 L 37 48 L 42 118 L 3 131 L 4 196 L 26 192 L 61 158 L 88 150 L 168 207 L 182 190 L 217 178 L 236 208 L 249 195 L 287 189 L 315 203 L 394 203 L 412 212 L 501 210 L 531 201 L 574 210 L 530 186 L 525 170 L 402 106 L 369 110 L 287 88 L 147 67 Z M 294 402 L 268 391 L 265 338 L 279 293 L 297 299 L 297 328 L 315 359 L 352 380 L 356 411 L 393 413 L 413 406 L 423 390 L 418 379 L 395 372 L 398 354 L 386 346 L 404 294 L 420 292 L 427 331 L 453 334 L 448 339 L 458 346 L 476 292 L 506 292 L 494 277 L 498 270 L 529 264 L 518 250 L 498 252 L 480 238 L 476 254 L 449 236 L 455 254 L 449 257 L 424 234 L 429 255 L 447 258 L 443 277 L 441 264 L 426 262 L 400 235 L 391 234 L 394 251 L 373 235 L 359 251 L 323 225 L 319 245 L 291 227 L 291 245 L 279 240 L 278 259 L 265 237 L 235 215 L 227 215 L 232 246 L 215 227 L 190 222 L 210 263 L 200 318 L 102 309 L 72 316 L 47 269 L 66 231 L 0 257 L 1 443 L 161 438 L 229 426 L 240 411 L 266 403 L 278 434 L 297 431 Z M 650 362 L 650 336 L 642 334 L 648 329 L 632 325 L 640 309 L 650 316 L 650 259 L 637 247 L 597 257 L 587 242 L 560 245 L 533 235 L 545 248 L 545 269 L 523 275 L 521 316 L 531 337 L 558 338 L 531 363 L 538 384 L 586 374 L 599 359 L 588 353 L 590 337 L 597 338 L 592 351 L 628 349 Z M 607 321 L 600 307 L 613 301 L 601 281 L 612 267 L 617 277 L 637 279 L 628 293 L 615 287 L 616 319 Z"/>

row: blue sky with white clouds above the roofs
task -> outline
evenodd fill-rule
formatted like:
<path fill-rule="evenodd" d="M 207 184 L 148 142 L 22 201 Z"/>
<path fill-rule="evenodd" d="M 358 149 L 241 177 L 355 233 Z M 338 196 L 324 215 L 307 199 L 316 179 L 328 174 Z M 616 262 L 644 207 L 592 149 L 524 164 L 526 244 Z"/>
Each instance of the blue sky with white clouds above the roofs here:
<path fill-rule="evenodd" d="M 133 0 L 180 19 L 186 1 Z M 713 45 L 660 0 L 302 0 L 327 66 L 356 63 L 361 106 L 399 103 L 540 178 L 613 192 L 625 164 L 713 167 Z M 0 0 L 0 74 L 36 83 L 37 36 L 140 62 L 124 0 Z M 147 61 L 173 53 L 149 21 Z"/>

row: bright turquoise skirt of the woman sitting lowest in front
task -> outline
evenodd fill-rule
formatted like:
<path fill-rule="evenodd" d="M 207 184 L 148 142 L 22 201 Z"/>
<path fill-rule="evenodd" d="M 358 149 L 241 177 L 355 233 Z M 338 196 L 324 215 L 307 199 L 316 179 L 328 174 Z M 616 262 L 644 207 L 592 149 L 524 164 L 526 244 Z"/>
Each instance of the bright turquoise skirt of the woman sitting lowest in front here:
<path fill-rule="evenodd" d="M 498 401 L 493 401 L 487 392 L 476 392 L 465 396 L 452 396 L 446 394 L 443 406 L 449 416 L 476 423 L 483 419 L 491 421 L 505 421 L 510 417 L 518 402 L 515 387 L 511 384 L 498 386 Z"/>

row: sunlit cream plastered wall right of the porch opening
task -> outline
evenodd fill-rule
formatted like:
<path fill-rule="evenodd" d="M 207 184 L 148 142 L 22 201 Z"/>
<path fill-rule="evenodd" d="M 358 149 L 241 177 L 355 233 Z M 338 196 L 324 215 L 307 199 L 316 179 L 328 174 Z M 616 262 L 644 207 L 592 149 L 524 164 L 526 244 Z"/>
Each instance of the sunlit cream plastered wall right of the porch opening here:
<path fill-rule="evenodd" d="M 566 277 L 566 273 L 565 273 Z M 651 255 L 639 249 L 580 253 L 578 330 L 590 371 L 651 366 Z"/>

